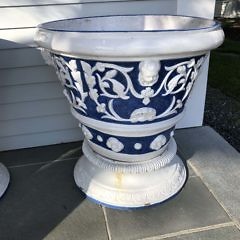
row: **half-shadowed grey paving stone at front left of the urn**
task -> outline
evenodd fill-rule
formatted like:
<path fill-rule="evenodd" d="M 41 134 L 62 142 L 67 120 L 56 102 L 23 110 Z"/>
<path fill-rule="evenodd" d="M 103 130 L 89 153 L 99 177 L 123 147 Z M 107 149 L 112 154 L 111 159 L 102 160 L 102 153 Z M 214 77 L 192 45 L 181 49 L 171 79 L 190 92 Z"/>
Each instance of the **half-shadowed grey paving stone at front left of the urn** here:
<path fill-rule="evenodd" d="M 107 239 L 102 209 L 74 183 L 75 162 L 10 169 L 12 181 L 0 201 L 1 240 Z"/>

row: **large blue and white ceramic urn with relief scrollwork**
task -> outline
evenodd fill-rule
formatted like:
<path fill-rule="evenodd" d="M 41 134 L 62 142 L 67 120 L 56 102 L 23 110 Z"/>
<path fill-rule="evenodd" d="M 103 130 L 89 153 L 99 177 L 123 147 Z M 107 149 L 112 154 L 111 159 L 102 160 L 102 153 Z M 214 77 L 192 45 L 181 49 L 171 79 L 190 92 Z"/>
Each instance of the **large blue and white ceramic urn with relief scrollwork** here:
<path fill-rule="evenodd" d="M 167 15 L 66 19 L 35 41 L 82 128 L 74 169 L 87 197 L 137 208 L 176 195 L 187 178 L 174 128 L 209 50 L 224 39 L 212 20 Z M 196 109 L 197 111 L 197 109 Z"/>

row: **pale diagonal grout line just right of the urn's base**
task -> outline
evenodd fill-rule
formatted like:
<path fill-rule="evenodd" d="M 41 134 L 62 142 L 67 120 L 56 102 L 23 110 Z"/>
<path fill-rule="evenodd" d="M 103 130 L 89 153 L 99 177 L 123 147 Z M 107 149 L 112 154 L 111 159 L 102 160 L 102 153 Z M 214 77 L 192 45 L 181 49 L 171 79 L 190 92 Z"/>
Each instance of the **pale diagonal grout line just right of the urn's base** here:
<path fill-rule="evenodd" d="M 228 215 L 228 217 L 235 223 L 235 226 L 240 230 L 240 223 L 239 221 L 232 216 L 232 214 L 228 211 L 228 209 L 224 206 L 224 204 L 218 199 L 218 197 L 216 196 L 216 194 L 214 193 L 214 190 L 211 189 L 211 187 L 209 186 L 209 184 L 204 181 L 203 176 L 201 174 L 201 172 L 194 166 L 193 163 L 189 162 L 189 165 L 191 166 L 191 168 L 194 170 L 194 172 L 196 173 L 196 175 L 201 179 L 201 181 L 203 182 L 203 184 L 206 186 L 206 188 L 208 189 L 208 191 L 213 195 L 213 197 L 216 199 L 216 201 L 218 202 L 218 204 L 223 208 L 223 210 L 226 212 L 226 214 Z"/>

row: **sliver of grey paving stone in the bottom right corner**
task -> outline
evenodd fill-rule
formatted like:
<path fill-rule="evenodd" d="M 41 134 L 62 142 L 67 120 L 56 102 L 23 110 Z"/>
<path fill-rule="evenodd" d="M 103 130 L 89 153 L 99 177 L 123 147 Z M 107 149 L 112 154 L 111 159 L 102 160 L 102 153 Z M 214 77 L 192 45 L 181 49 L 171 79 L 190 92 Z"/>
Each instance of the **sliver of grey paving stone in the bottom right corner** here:
<path fill-rule="evenodd" d="M 239 230 L 232 227 L 223 227 L 203 232 L 184 234 L 177 237 L 165 238 L 166 240 L 239 240 Z"/>

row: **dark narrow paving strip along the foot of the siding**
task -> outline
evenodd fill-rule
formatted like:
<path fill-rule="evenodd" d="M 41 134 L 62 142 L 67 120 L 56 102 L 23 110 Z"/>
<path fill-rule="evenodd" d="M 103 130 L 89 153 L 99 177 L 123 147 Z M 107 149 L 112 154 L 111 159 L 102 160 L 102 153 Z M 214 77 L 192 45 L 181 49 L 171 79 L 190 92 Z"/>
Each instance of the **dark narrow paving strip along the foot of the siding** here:
<path fill-rule="evenodd" d="M 82 142 L 49 145 L 0 152 L 0 162 L 6 167 L 53 160 L 78 158 L 82 155 Z"/>

